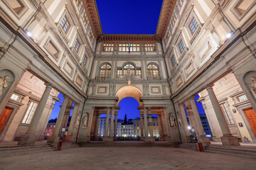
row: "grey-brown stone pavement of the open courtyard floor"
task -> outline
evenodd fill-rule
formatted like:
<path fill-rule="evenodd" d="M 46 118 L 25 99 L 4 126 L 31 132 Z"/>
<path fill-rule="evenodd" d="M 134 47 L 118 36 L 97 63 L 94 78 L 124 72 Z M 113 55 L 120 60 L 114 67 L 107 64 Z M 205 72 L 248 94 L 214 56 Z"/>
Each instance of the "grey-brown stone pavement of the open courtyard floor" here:
<path fill-rule="evenodd" d="M 0 153 L 1 154 L 1 153 Z M 255 169 L 255 159 L 169 147 L 78 147 L 0 159 L 0 169 Z"/>

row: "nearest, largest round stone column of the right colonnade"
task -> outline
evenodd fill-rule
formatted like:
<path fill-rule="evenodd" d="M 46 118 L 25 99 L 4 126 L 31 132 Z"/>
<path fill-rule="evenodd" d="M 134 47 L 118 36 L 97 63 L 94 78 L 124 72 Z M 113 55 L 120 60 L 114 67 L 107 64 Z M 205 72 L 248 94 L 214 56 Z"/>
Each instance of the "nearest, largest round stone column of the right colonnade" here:
<path fill-rule="evenodd" d="M 210 102 L 213 105 L 213 110 L 215 111 L 218 123 L 220 124 L 220 129 L 223 132 L 223 137 L 220 137 L 223 146 L 240 146 L 238 138 L 231 135 L 230 129 L 228 128 L 228 123 L 225 120 L 223 111 L 221 110 L 220 104 L 218 103 L 218 99 L 214 94 L 213 84 L 208 85 L 206 90 L 210 97 Z"/>

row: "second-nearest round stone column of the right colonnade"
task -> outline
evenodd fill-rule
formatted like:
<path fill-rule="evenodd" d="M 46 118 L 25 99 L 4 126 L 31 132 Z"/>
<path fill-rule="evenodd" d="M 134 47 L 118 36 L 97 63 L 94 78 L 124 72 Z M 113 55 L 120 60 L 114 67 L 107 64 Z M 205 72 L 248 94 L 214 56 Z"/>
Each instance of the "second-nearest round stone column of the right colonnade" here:
<path fill-rule="evenodd" d="M 194 100 L 194 97 L 189 98 L 189 101 L 191 102 L 192 110 L 193 110 L 193 115 L 196 120 L 196 127 L 198 128 L 198 140 L 200 142 L 203 142 L 204 144 L 210 144 L 210 140 L 208 137 L 206 137 L 205 132 L 203 131 L 203 125 L 201 122 L 200 115 L 198 113 L 198 109 L 196 107 L 196 102 Z"/>

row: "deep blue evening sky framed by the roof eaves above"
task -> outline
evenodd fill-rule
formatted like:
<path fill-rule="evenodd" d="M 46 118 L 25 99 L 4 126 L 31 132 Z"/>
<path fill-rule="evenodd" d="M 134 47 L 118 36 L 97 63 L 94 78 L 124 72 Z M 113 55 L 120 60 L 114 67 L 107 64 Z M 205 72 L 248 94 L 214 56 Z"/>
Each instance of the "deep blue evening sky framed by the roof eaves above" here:
<path fill-rule="evenodd" d="M 162 0 L 96 0 L 105 34 L 155 34 Z"/>

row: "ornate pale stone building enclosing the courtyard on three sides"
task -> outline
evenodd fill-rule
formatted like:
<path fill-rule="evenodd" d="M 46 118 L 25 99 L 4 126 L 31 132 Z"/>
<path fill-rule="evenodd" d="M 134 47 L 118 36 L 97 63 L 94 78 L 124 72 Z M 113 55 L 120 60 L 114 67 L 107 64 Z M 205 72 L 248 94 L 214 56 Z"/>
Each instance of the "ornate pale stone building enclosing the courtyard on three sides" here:
<path fill-rule="evenodd" d="M 196 94 L 214 141 L 256 140 L 255 1 L 166 0 L 154 35 L 105 35 L 95 0 L 0 6 L 0 141 L 42 140 L 59 93 L 48 142 L 58 142 L 73 103 L 66 141 L 96 140 L 106 114 L 103 142 L 113 142 L 118 103 L 133 97 L 147 118 L 144 142 L 154 142 L 151 115 L 164 141 L 188 142 L 186 109 L 198 140 L 209 143 Z"/>

